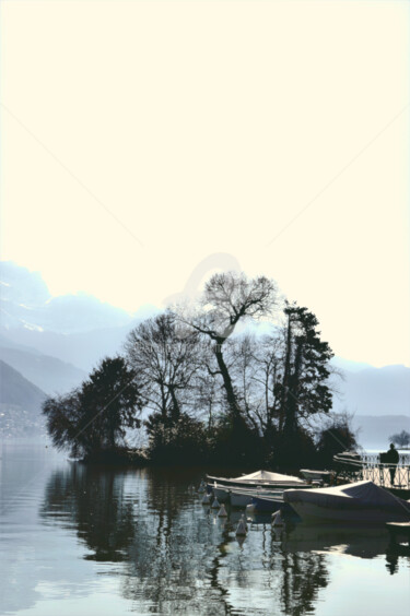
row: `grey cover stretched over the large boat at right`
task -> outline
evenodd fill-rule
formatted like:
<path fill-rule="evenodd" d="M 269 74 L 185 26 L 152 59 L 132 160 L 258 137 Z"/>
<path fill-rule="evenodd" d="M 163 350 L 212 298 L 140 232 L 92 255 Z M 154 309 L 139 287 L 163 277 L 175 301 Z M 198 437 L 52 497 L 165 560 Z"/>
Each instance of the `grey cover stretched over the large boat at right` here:
<path fill-rule="evenodd" d="M 329 509 L 400 509 L 405 508 L 410 517 L 410 502 L 390 494 L 373 482 L 355 482 L 341 486 L 317 489 L 286 489 L 285 502 L 311 502 Z"/>

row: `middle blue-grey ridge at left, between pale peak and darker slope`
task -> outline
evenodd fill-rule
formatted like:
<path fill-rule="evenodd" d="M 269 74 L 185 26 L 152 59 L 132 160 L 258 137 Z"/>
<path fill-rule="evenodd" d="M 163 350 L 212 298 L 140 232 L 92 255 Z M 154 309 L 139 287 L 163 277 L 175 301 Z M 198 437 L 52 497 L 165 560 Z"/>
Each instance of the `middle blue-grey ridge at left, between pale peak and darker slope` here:
<path fill-rule="evenodd" d="M 85 370 L 72 364 L 21 348 L 1 345 L 0 359 L 48 394 L 66 393 L 78 387 L 87 376 Z"/>

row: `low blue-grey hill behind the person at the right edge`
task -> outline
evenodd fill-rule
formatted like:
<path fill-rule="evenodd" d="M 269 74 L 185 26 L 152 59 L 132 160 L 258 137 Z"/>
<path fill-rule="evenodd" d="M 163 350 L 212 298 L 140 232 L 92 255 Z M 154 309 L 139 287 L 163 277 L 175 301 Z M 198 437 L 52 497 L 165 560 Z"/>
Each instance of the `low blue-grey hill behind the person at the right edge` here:
<path fill-rule="evenodd" d="M 365 449 L 388 449 L 390 436 L 407 430 L 410 433 L 410 415 L 356 415 L 353 427 L 359 430 L 358 441 Z"/>

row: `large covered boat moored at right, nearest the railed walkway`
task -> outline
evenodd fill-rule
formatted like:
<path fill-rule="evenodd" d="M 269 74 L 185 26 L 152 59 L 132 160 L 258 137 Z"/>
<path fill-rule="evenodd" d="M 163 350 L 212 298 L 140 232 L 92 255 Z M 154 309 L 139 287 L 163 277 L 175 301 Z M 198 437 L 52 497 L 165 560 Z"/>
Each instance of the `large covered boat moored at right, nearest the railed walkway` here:
<path fill-rule="evenodd" d="M 283 500 L 305 522 L 382 524 L 410 520 L 409 501 L 366 481 L 331 488 L 288 489 Z"/>

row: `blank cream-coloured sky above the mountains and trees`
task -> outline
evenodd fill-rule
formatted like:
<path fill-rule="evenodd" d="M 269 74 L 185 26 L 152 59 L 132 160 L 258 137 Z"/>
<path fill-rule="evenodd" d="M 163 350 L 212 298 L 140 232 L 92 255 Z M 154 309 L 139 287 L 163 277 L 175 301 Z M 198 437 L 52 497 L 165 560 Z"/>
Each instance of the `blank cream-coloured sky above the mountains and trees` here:
<path fill-rule="evenodd" d="M 409 365 L 409 8 L 3 1 L 1 258 L 136 310 L 225 252 Z"/>

